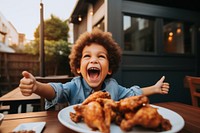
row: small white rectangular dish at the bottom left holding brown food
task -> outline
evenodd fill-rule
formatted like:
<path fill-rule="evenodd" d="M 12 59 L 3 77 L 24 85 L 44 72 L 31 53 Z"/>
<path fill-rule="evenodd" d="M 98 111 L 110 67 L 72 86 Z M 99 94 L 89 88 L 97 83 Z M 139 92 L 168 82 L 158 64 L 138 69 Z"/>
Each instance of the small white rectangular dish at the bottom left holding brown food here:
<path fill-rule="evenodd" d="M 35 133 L 41 133 L 44 128 L 46 122 L 31 122 L 31 123 L 22 123 L 18 125 L 13 132 L 21 131 L 21 130 L 33 130 Z"/>

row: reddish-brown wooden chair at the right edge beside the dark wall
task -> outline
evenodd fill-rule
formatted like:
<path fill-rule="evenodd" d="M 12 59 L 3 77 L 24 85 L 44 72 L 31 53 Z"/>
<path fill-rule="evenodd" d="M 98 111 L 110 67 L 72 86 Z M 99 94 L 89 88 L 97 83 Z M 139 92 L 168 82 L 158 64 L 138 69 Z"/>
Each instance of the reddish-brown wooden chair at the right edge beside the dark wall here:
<path fill-rule="evenodd" d="M 188 82 L 188 88 L 190 89 L 192 105 L 199 107 L 200 103 L 198 103 L 198 101 L 200 99 L 200 77 L 186 76 L 185 80 Z"/>

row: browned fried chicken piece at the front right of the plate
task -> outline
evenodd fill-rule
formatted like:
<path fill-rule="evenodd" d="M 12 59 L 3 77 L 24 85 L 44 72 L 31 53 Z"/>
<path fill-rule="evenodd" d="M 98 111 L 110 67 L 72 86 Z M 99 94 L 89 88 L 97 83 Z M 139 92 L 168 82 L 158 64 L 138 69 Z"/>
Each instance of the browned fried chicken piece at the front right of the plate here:
<path fill-rule="evenodd" d="M 145 105 L 136 112 L 125 114 L 125 119 L 122 120 L 120 128 L 124 131 L 130 131 L 136 125 L 155 131 L 167 131 L 172 127 L 170 122 L 158 113 L 157 108 L 150 105 Z"/>

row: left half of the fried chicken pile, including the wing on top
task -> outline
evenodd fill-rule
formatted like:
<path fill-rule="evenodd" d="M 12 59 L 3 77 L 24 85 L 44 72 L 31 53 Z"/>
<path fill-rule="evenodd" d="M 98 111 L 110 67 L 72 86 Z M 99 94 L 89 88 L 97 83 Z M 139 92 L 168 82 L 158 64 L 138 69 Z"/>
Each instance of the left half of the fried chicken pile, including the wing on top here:
<path fill-rule="evenodd" d="M 81 105 L 74 106 L 75 113 L 70 112 L 70 118 L 74 122 L 83 120 L 93 130 L 99 129 L 101 132 L 109 133 L 110 123 L 114 117 L 113 107 L 116 108 L 117 104 L 111 100 L 109 92 L 94 92 Z"/>

